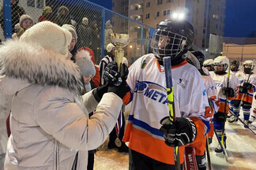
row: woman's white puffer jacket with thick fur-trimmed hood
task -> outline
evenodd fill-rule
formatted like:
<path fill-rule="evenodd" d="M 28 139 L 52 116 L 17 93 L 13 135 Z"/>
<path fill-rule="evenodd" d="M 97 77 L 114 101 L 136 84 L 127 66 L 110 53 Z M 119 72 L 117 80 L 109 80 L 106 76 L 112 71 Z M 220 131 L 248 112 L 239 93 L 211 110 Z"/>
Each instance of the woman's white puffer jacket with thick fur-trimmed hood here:
<path fill-rule="evenodd" d="M 70 170 L 77 153 L 76 169 L 85 170 L 87 150 L 107 139 L 122 99 L 107 93 L 98 103 L 90 91 L 82 100 L 77 66 L 39 46 L 6 42 L 0 59 L 0 89 L 14 95 L 5 170 Z"/>

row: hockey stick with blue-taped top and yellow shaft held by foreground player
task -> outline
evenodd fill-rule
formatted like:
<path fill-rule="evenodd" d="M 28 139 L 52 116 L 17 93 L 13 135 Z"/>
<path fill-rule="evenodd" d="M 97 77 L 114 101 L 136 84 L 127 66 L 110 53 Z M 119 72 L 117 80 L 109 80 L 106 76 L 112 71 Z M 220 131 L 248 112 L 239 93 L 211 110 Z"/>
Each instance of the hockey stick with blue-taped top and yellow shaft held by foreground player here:
<path fill-rule="evenodd" d="M 174 124 L 176 121 L 175 116 L 175 104 L 173 100 L 173 87 L 172 87 L 172 79 L 171 79 L 171 57 L 164 57 L 164 72 L 166 79 L 166 90 L 168 93 L 168 109 L 169 109 L 169 117 L 171 120 L 171 124 Z M 175 167 L 180 170 L 180 161 L 179 161 L 179 147 L 176 146 L 173 148 L 174 158 L 175 158 Z"/>

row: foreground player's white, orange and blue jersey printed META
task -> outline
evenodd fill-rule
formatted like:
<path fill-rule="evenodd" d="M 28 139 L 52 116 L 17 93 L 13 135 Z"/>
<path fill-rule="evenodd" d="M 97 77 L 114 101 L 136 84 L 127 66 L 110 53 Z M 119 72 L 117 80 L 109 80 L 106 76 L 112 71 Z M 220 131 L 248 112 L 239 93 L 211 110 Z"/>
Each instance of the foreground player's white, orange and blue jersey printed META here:
<path fill-rule="evenodd" d="M 156 161 L 174 164 L 173 148 L 164 143 L 160 132 L 160 120 L 168 116 L 168 98 L 164 67 L 160 66 L 153 54 L 140 57 L 129 68 L 127 84 L 132 93 L 130 116 L 124 142 L 131 150 L 142 153 Z M 171 69 L 175 114 L 190 117 L 197 126 L 194 142 L 200 141 L 209 131 L 209 103 L 205 87 L 198 70 L 183 61 Z M 206 113 L 209 114 L 209 113 Z M 183 147 L 179 147 L 183 162 Z"/>

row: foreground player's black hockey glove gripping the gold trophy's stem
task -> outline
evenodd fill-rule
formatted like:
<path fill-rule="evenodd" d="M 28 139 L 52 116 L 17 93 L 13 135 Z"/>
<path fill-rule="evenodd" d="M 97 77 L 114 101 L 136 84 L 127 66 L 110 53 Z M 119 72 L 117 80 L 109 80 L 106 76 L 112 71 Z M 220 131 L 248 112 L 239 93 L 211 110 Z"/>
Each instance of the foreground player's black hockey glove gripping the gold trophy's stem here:
<path fill-rule="evenodd" d="M 107 64 L 103 78 L 106 83 L 115 84 L 119 81 L 119 77 L 121 77 L 121 79 L 125 81 L 127 79 L 128 72 L 128 68 L 124 64 L 121 65 L 121 69 L 119 72 L 118 65 L 116 64 L 116 62 L 112 61 Z"/>

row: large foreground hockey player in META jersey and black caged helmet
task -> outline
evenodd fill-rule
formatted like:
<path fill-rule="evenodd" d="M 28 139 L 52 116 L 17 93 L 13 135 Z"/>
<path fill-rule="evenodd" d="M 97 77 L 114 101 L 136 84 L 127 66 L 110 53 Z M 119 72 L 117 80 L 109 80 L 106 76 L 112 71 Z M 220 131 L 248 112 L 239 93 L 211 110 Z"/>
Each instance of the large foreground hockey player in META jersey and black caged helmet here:
<path fill-rule="evenodd" d="M 189 22 L 164 20 L 152 38 L 154 54 L 140 57 L 129 68 L 127 84 L 133 102 L 123 141 L 129 142 L 130 169 L 175 169 L 173 147 L 179 146 L 183 164 L 184 145 L 201 142 L 209 131 L 205 114 L 210 109 L 201 75 L 183 58 L 193 41 L 194 28 Z M 175 100 L 172 126 L 163 66 L 167 56 L 171 57 Z"/>

